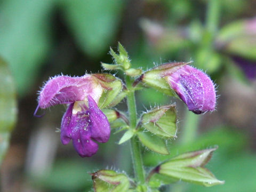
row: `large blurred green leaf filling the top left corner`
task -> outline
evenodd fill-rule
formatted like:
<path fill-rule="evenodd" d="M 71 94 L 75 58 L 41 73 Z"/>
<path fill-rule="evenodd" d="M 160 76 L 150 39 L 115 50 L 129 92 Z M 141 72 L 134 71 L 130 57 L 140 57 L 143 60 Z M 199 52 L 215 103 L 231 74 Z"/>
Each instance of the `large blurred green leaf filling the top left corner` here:
<path fill-rule="evenodd" d="M 33 84 L 49 50 L 53 2 L 9 0 L 0 7 L 0 54 L 10 63 L 19 94 Z"/>

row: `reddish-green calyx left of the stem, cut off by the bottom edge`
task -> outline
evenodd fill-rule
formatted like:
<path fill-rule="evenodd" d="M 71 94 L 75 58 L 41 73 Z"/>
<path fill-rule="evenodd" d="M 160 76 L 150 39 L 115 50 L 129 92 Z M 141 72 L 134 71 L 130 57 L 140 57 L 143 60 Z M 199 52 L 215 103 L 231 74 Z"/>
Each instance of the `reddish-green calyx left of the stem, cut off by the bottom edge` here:
<path fill-rule="evenodd" d="M 91 173 L 95 192 L 127 192 L 130 188 L 130 180 L 123 173 L 113 170 L 100 170 Z"/>

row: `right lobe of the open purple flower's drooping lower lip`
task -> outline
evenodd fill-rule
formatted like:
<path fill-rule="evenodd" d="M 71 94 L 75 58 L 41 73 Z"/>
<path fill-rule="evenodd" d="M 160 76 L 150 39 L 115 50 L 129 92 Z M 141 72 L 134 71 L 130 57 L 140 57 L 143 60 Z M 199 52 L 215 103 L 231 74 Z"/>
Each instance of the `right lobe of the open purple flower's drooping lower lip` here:
<path fill-rule="evenodd" d="M 88 105 L 91 138 L 98 142 L 107 142 L 110 137 L 110 125 L 106 115 L 98 108 L 90 95 L 88 95 Z"/>

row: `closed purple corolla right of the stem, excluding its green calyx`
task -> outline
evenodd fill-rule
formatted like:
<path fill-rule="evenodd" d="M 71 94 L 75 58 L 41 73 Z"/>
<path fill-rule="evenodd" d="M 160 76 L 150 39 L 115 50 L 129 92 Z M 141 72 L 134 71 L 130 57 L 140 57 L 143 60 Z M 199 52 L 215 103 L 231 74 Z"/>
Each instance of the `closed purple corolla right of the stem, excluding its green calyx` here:
<path fill-rule="evenodd" d="M 195 114 L 215 109 L 216 94 L 209 76 L 201 70 L 185 65 L 170 74 L 164 74 L 172 89 Z"/>

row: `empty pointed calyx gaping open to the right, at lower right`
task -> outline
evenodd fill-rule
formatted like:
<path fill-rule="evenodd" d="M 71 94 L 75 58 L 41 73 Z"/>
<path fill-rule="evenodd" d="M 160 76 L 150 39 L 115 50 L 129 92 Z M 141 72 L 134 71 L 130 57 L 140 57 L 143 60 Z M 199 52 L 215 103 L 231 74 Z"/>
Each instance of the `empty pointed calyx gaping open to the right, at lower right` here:
<path fill-rule="evenodd" d="M 154 172 L 167 177 L 210 187 L 223 184 L 204 165 L 211 159 L 216 148 L 181 154 L 157 166 Z"/>

